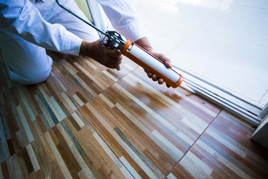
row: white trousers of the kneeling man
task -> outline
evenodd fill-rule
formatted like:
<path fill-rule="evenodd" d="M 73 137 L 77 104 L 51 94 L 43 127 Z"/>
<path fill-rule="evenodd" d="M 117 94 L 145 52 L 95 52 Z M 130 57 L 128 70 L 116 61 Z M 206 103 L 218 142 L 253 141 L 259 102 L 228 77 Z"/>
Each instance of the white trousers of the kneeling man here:
<path fill-rule="evenodd" d="M 60 0 L 60 3 L 83 19 L 87 19 L 74 0 Z M 69 32 L 86 41 L 99 39 L 95 29 L 63 10 L 55 0 L 46 0 L 45 3 L 36 1 L 35 7 L 47 22 L 62 24 Z M 49 77 L 53 61 L 43 47 L 1 29 L 0 39 L 0 48 L 3 51 L 7 72 L 11 80 L 23 84 L 37 84 Z"/>

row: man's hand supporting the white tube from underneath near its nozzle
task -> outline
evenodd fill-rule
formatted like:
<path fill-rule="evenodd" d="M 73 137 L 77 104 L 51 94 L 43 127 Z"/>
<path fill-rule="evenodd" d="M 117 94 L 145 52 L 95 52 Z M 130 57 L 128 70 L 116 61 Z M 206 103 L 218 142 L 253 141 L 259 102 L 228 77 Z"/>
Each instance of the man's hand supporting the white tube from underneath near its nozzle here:
<path fill-rule="evenodd" d="M 143 37 L 143 38 L 140 38 L 139 40 L 135 41 L 135 43 L 144 48 L 144 50 L 146 50 L 147 52 L 151 53 L 152 55 L 154 55 L 156 58 L 160 59 L 161 61 L 163 61 L 166 65 L 166 67 L 168 68 L 172 68 L 172 64 L 170 62 L 170 59 L 167 58 L 164 54 L 162 53 L 158 53 L 156 52 L 151 44 L 149 43 L 147 37 Z M 158 84 L 163 84 L 164 83 L 164 80 L 162 78 L 158 78 L 155 74 L 152 74 L 151 72 L 147 71 L 144 69 L 144 71 L 147 73 L 147 76 L 149 78 L 152 78 L 153 81 L 158 81 Z M 166 84 L 166 86 L 169 88 L 170 85 L 169 84 Z"/>

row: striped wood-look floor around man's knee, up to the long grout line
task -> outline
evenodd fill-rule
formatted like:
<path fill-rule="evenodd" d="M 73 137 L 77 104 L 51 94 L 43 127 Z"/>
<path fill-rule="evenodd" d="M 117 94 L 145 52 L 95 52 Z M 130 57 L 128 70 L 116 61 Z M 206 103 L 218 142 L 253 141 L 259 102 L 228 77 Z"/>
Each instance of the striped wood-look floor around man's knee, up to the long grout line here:
<path fill-rule="evenodd" d="M 124 58 L 121 71 L 109 71 L 88 57 L 47 53 L 54 60 L 52 71 L 37 85 L 11 82 L 0 55 L 0 163 L 129 73 L 124 64 L 138 66 Z"/>

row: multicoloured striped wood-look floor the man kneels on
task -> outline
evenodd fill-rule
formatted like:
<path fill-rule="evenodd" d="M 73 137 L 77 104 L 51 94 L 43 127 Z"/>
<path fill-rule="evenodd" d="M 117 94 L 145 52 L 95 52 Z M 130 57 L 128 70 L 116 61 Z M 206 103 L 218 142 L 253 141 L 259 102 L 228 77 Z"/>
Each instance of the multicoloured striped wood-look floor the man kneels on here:
<path fill-rule="evenodd" d="M 267 178 L 254 127 L 183 88 L 82 56 L 49 53 L 38 85 L 11 81 L 1 59 L 1 178 Z"/>

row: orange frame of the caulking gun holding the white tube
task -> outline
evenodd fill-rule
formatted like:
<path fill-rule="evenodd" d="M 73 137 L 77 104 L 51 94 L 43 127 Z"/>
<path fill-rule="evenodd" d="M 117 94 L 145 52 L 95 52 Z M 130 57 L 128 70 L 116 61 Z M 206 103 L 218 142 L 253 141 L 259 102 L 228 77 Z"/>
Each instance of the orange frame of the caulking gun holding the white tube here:
<path fill-rule="evenodd" d="M 180 75 L 180 79 L 179 81 L 173 81 L 172 79 L 168 78 L 166 75 L 163 75 L 161 72 L 159 72 L 158 70 L 156 70 L 155 68 L 152 68 L 149 64 L 145 63 L 144 61 L 142 61 L 141 59 L 139 59 L 138 57 L 136 57 L 135 55 L 133 55 L 131 53 L 131 50 L 129 51 L 129 47 L 130 45 L 135 44 L 132 40 L 128 40 L 123 49 L 121 50 L 122 55 L 125 55 L 126 57 L 128 57 L 130 60 L 134 61 L 136 64 L 138 64 L 139 66 L 143 67 L 144 69 L 148 70 L 149 72 L 152 72 L 153 74 L 155 74 L 158 78 L 162 78 L 167 84 L 169 84 L 170 86 L 172 86 L 173 88 L 176 88 L 178 86 L 180 86 L 180 84 L 183 81 L 183 76 L 180 75 L 179 73 L 177 73 L 175 70 L 173 70 L 174 72 L 176 72 L 178 75 Z M 143 48 L 141 48 L 140 46 L 138 46 L 137 44 L 135 44 L 137 47 L 139 47 L 141 50 L 144 50 Z M 160 61 L 161 63 L 165 64 L 163 61 L 161 61 L 160 59 L 156 58 L 154 55 L 152 55 L 151 53 L 147 52 L 146 50 L 144 50 L 146 53 L 148 53 L 149 55 L 151 55 L 152 57 L 154 57 L 156 60 Z"/>

